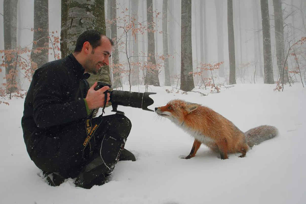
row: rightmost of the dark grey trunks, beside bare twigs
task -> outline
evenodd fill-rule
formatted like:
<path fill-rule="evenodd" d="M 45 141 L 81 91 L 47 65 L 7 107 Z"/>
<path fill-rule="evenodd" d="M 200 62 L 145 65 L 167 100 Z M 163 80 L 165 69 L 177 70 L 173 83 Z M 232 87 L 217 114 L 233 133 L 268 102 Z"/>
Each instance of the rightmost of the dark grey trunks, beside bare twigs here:
<path fill-rule="evenodd" d="M 284 44 L 284 26 L 283 26 L 283 14 L 282 14 L 282 2 L 280 0 L 273 0 L 274 7 L 274 24 L 275 24 L 275 45 L 276 45 L 276 58 L 278 73 L 281 83 L 288 82 L 288 70 L 285 69 L 284 81 L 283 79 L 283 67 L 285 63 L 285 44 Z M 294 29 L 293 29 L 294 30 Z M 288 63 L 286 62 L 286 67 Z"/>

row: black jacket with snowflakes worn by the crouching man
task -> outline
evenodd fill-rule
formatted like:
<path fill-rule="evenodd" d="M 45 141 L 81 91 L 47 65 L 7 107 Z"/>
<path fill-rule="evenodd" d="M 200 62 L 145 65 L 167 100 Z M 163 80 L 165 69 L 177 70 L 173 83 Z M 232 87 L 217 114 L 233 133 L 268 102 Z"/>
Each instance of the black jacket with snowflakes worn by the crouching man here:
<path fill-rule="evenodd" d="M 48 136 L 61 135 L 64 125 L 88 115 L 84 98 L 89 85 L 84 68 L 73 54 L 37 69 L 24 101 L 21 126 L 28 154 Z M 31 157 L 32 158 L 32 157 Z"/>

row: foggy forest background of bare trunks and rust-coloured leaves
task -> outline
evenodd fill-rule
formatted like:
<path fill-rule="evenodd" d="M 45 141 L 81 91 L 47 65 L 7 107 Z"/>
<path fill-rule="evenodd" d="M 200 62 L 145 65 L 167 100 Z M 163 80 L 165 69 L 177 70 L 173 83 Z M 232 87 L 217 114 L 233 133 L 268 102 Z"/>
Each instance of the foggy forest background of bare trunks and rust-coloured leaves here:
<path fill-rule="evenodd" d="M 71 53 L 86 29 L 100 30 L 117 45 L 110 67 L 90 83 L 166 85 L 170 92 L 305 83 L 303 0 L 2 2 L 2 102 L 13 93 L 23 97 L 34 70 Z"/>

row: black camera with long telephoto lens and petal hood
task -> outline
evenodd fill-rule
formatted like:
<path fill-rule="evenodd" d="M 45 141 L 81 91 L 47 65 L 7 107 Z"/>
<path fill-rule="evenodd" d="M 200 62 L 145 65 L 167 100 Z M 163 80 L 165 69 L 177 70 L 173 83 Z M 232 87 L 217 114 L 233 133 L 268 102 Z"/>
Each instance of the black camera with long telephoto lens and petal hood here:
<path fill-rule="evenodd" d="M 99 90 L 100 88 L 108 86 L 111 87 L 110 84 L 98 81 L 98 85 L 95 87 L 95 90 Z M 147 106 L 150 106 L 154 103 L 153 99 L 149 97 L 150 94 L 156 94 L 153 92 L 130 92 L 130 91 L 119 91 L 113 90 L 108 91 L 110 93 L 110 102 L 112 104 L 113 112 L 118 114 L 124 114 L 122 111 L 118 111 L 117 107 L 120 106 L 130 106 L 133 108 L 141 108 L 143 110 L 153 111 L 148 109 Z M 107 91 L 105 92 L 107 93 Z"/>

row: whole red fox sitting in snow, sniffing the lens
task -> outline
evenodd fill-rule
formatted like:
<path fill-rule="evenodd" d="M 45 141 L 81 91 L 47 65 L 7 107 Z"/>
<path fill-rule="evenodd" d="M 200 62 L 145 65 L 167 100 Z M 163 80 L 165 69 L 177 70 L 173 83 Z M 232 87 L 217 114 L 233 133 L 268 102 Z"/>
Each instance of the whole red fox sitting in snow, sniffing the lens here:
<path fill-rule="evenodd" d="M 244 133 L 212 109 L 183 100 L 172 100 L 166 106 L 156 107 L 155 112 L 169 118 L 195 138 L 190 154 L 185 159 L 194 157 L 201 143 L 220 152 L 221 159 L 227 159 L 228 153 L 238 152 L 242 153 L 239 157 L 244 157 L 253 145 L 278 135 L 278 129 L 269 125 L 252 128 Z"/>

